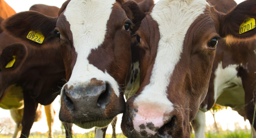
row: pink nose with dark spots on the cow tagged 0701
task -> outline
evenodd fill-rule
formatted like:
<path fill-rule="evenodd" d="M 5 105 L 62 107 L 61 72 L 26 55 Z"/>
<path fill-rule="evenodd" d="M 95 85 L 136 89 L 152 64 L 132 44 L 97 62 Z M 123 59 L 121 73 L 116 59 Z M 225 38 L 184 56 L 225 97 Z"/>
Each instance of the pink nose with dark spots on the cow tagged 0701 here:
<path fill-rule="evenodd" d="M 154 109 L 129 108 L 129 117 L 132 120 L 134 130 L 142 137 L 171 136 L 177 126 L 177 117 L 172 113 L 163 113 Z"/>

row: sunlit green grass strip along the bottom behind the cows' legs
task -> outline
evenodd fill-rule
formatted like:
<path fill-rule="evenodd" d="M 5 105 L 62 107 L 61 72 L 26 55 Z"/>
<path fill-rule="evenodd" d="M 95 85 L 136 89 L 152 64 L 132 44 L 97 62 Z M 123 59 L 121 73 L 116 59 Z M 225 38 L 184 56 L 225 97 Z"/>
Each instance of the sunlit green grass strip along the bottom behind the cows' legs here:
<path fill-rule="evenodd" d="M 246 132 L 244 130 L 236 130 L 236 131 L 222 131 L 221 133 L 213 133 L 213 132 L 206 132 L 206 138 L 250 138 L 250 132 Z M 0 134 L 0 138 L 11 138 L 11 135 L 3 135 Z M 194 134 L 191 135 L 191 138 L 194 138 Z M 47 134 L 39 134 L 39 133 L 32 133 L 29 138 L 48 138 Z M 65 138 L 64 135 L 54 136 L 54 138 Z M 73 138 L 94 138 L 94 133 L 85 133 L 85 134 L 74 134 Z M 106 138 L 112 138 L 112 135 L 107 134 Z M 122 134 L 117 134 L 117 138 L 126 138 Z"/>

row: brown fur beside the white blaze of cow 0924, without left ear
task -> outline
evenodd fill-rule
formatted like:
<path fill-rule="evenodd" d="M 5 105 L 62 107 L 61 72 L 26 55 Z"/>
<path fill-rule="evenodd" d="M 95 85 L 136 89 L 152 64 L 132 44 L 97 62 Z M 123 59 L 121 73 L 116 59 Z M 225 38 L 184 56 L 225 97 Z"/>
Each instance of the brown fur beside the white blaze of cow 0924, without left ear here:
<path fill-rule="evenodd" d="M 127 1 L 123 3 L 123 5 L 127 3 L 132 3 L 133 1 Z M 120 2 L 121 3 L 121 2 Z M 134 4 L 134 3 L 133 3 Z M 130 13 L 131 16 L 138 17 L 140 19 L 143 18 L 143 14 L 141 16 L 141 10 L 140 9 L 130 9 L 129 7 L 126 8 L 127 12 Z M 140 11 L 140 12 L 131 12 L 131 11 Z M 110 15 L 110 19 L 107 23 L 108 31 L 106 33 L 106 40 L 103 42 L 102 46 L 99 47 L 97 50 L 92 50 L 91 54 L 88 57 L 89 63 L 97 67 L 98 69 L 102 70 L 103 72 L 107 70 L 108 73 L 110 73 L 111 76 L 113 76 L 118 84 L 120 85 L 121 90 L 124 91 L 124 86 L 128 83 L 127 75 L 128 70 L 130 69 L 131 65 L 131 50 L 130 50 L 130 33 L 122 30 L 124 24 L 124 19 L 126 18 L 126 14 L 124 10 L 120 7 L 119 3 L 114 4 L 112 13 Z M 129 17 L 129 16 L 128 16 Z M 132 18 L 132 17 L 131 17 Z M 63 14 L 60 14 L 59 20 L 57 22 L 57 30 L 61 33 L 63 36 L 61 39 L 61 51 L 64 59 L 64 64 L 66 67 L 66 72 L 70 72 L 67 74 L 67 80 L 69 80 L 69 77 L 71 75 L 71 72 L 73 70 L 74 64 L 76 62 L 76 53 L 74 50 L 74 47 L 72 46 L 73 38 L 72 33 L 69 29 L 69 23 L 65 20 L 65 17 Z M 113 22 L 115 21 L 115 22 Z M 133 23 L 135 24 L 135 27 L 138 26 L 136 23 L 140 22 L 138 19 L 135 20 Z M 115 30 L 114 28 L 118 27 L 118 30 Z M 136 28 L 133 28 L 134 30 Z M 121 30 L 120 30 L 121 29 Z M 118 36 L 118 37 L 117 37 Z M 67 38 L 69 40 L 67 40 Z M 114 40 L 112 41 L 112 39 Z M 68 46 L 67 44 L 71 44 L 71 46 Z M 123 47 L 120 47 L 120 46 Z M 70 53 L 74 53 L 74 56 L 68 56 L 66 51 L 70 51 Z M 98 55 L 101 55 L 100 57 Z M 67 62 L 65 62 L 67 61 Z M 70 66 L 72 65 L 72 66 Z M 118 71 L 117 71 L 118 70 Z M 112 96 L 110 97 L 110 103 L 106 106 L 105 112 L 102 117 L 100 118 L 113 118 L 116 116 L 116 113 L 123 112 L 124 109 L 124 99 L 122 97 L 123 93 L 121 92 L 119 98 L 112 92 Z M 118 104 L 117 104 L 118 103 Z M 70 114 L 67 112 L 65 106 L 61 106 L 60 116 L 65 117 L 63 121 L 70 122 L 70 120 L 67 120 L 67 117 L 70 116 Z M 62 112 L 62 110 L 65 112 Z M 73 119 L 72 119 L 73 120 Z"/>

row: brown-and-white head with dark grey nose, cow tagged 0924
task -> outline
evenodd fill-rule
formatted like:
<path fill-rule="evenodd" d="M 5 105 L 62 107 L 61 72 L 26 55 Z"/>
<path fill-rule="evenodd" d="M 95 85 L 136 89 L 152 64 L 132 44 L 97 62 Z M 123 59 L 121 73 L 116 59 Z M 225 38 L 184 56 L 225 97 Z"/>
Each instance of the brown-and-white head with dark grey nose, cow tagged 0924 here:
<path fill-rule="evenodd" d="M 45 36 L 43 43 L 59 41 L 68 81 L 61 90 L 61 121 L 103 127 L 124 111 L 131 33 L 145 17 L 136 2 L 71 0 L 62 5 L 58 18 L 37 12 L 17 16 L 22 18 L 4 23 L 13 36 L 26 38 L 29 31 L 39 30 Z"/>

